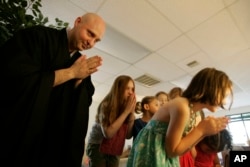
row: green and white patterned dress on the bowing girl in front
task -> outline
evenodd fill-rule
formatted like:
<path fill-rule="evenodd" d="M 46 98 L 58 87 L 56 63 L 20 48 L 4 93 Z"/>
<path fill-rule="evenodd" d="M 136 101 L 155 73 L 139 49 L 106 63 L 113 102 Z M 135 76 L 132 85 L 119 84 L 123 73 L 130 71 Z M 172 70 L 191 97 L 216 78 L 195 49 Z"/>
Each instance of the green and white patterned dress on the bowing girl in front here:
<path fill-rule="evenodd" d="M 127 167 L 179 167 L 179 157 L 170 158 L 165 151 L 168 123 L 150 120 L 136 137 Z"/>

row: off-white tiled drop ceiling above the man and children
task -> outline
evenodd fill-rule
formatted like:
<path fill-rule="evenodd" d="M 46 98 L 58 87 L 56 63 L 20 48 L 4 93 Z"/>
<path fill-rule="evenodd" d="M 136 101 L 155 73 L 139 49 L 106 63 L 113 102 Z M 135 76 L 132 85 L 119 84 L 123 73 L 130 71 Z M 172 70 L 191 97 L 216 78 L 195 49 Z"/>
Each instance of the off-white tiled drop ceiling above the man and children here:
<path fill-rule="evenodd" d="M 103 65 L 92 75 L 96 106 L 114 79 L 148 75 L 160 83 L 146 87 L 136 82 L 138 100 L 172 87 L 185 88 L 204 67 L 225 71 L 234 83 L 233 110 L 250 111 L 250 1 L 249 0 L 42 0 L 50 23 L 59 18 L 73 26 L 76 17 L 96 12 L 107 23 L 104 38 L 93 49 Z M 187 64 L 196 61 L 196 66 Z"/>

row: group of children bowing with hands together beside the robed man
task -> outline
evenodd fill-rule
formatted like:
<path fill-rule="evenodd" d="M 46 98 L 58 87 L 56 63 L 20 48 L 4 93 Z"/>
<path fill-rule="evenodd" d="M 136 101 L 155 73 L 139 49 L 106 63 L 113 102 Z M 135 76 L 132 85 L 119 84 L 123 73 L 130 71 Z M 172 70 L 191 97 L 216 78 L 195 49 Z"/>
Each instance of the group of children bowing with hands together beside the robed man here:
<path fill-rule="evenodd" d="M 214 153 L 231 147 L 226 142 L 231 141 L 225 130 L 228 118 L 204 118 L 202 110 L 224 108 L 232 86 L 223 71 L 204 68 L 185 90 L 175 88 L 136 102 L 133 79 L 118 76 L 98 107 L 86 150 L 89 166 L 118 167 L 125 140 L 133 137 L 127 167 L 202 167 L 204 155 L 211 161 Z M 135 119 L 138 111 L 142 117 Z"/>

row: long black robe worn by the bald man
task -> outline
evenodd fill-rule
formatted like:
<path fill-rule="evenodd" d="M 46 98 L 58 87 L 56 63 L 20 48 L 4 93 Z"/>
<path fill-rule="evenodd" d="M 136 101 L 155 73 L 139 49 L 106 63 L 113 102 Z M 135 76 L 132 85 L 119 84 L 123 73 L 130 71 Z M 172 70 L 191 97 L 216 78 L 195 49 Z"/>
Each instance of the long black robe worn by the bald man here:
<path fill-rule="evenodd" d="M 53 87 L 54 71 L 80 56 L 70 58 L 66 29 L 28 28 L 0 49 L 0 163 L 80 167 L 94 86 L 89 76 Z"/>

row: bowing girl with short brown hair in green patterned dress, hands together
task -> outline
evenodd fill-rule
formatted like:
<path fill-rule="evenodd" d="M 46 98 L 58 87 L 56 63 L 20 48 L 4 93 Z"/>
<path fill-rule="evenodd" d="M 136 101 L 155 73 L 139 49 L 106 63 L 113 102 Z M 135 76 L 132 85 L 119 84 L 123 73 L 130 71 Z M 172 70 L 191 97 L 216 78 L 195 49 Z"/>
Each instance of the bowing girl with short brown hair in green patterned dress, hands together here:
<path fill-rule="evenodd" d="M 127 167 L 179 167 L 180 155 L 228 124 L 227 117 L 207 117 L 193 128 L 195 113 L 204 108 L 211 112 L 224 108 L 229 95 L 232 96 L 232 81 L 224 72 L 214 68 L 199 71 L 182 97 L 161 107 L 139 132 Z M 190 132 L 183 135 L 187 124 Z"/>

